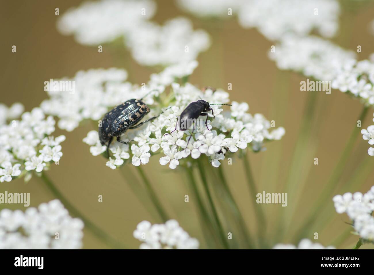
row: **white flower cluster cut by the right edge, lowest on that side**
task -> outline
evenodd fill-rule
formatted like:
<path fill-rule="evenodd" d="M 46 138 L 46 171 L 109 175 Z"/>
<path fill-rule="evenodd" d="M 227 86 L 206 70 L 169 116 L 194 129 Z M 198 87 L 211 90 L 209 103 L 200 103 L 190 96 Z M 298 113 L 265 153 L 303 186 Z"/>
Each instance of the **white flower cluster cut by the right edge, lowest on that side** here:
<path fill-rule="evenodd" d="M 356 233 L 365 241 L 374 241 L 374 186 L 364 195 L 345 193 L 332 198 L 337 213 L 347 213 Z"/>

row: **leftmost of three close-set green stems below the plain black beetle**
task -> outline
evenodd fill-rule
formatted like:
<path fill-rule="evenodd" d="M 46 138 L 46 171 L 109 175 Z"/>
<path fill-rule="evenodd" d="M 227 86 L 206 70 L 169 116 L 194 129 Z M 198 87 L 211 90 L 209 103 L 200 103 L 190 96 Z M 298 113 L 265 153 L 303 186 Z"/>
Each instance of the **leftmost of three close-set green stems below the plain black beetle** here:
<path fill-rule="evenodd" d="M 197 205 L 197 208 L 199 209 L 200 223 L 201 223 L 203 232 L 205 232 L 204 235 L 206 237 L 206 241 L 208 242 L 208 247 L 214 248 L 212 245 L 212 241 L 211 241 L 212 236 L 215 236 L 215 229 L 213 226 L 213 222 L 211 218 L 209 217 L 209 213 L 206 210 L 203 200 L 200 196 L 199 189 L 197 188 L 196 180 L 194 178 L 192 168 L 186 167 L 185 171 L 186 171 L 187 178 L 188 178 L 188 184 L 190 185 L 190 188 L 193 191 L 194 196 L 196 197 L 196 205 Z M 215 241 L 217 242 L 217 240 Z"/>

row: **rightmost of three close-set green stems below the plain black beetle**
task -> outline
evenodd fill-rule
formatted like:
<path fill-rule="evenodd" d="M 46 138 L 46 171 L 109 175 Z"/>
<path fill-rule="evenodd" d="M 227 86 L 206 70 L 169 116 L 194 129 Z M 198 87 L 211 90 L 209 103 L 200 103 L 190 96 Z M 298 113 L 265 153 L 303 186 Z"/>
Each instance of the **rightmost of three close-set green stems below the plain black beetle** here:
<path fill-rule="evenodd" d="M 246 245 L 248 248 L 254 248 L 253 242 L 251 240 L 251 236 L 249 234 L 248 228 L 245 224 L 245 221 L 243 219 L 242 214 L 240 213 L 239 207 L 234 199 L 234 196 L 232 195 L 229 185 L 227 184 L 226 177 L 223 171 L 222 166 L 220 165 L 218 168 L 218 178 L 220 179 L 221 185 L 224 188 L 225 195 L 229 199 L 230 207 L 232 208 L 232 212 L 234 213 L 234 216 L 236 217 L 237 221 L 239 221 L 239 227 L 242 232 L 242 235 L 244 236 L 244 240 L 246 242 Z"/>

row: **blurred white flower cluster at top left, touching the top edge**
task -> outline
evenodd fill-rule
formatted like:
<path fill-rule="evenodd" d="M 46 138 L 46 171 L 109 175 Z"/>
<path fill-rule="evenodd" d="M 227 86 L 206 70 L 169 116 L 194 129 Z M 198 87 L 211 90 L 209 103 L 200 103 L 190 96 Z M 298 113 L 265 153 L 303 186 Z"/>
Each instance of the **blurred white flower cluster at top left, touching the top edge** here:
<path fill-rule="evenodd" d="M 85 1 L 61 15 L 57 27 L 62 34 L 74 34 L 78 43 L 97 46 L 126 36 L 155 12 L 153 0 Z"/>

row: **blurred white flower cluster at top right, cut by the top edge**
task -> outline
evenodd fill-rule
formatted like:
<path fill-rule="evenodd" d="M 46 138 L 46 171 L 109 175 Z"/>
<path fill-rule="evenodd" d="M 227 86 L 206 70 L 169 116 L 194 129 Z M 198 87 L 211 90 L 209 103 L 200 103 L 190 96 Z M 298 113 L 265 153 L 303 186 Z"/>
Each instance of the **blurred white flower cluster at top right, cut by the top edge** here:
<path fill-rule="evenodd" d="M 270 40 L 285 34 L 307 36 L 317 30 L 332 37 L 338 29 L 340 8 L 336 0 L 248 0 L 239 10 L 239 24 L 255 27 Z"/>

